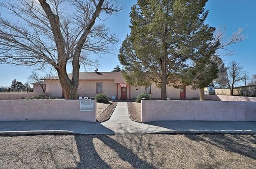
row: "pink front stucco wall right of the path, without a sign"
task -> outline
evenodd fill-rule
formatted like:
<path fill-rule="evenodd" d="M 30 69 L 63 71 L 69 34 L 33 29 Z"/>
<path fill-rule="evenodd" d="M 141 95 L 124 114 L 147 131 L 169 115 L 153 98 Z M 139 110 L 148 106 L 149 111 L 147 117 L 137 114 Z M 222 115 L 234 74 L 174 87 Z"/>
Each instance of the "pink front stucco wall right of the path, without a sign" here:
<path fill-rule="evenodd" d="M 142 100 L 141 121 L 256 121 L 256 102 Z"/>

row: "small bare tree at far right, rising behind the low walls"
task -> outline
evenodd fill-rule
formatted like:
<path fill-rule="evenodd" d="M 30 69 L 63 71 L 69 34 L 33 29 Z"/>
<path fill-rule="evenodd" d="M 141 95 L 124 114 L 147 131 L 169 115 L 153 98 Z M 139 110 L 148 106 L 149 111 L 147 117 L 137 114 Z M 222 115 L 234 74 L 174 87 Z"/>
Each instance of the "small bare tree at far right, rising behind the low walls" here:
<path fill-rule="evenodd" d="M 230 89 L 231 96 L 233 96 L 235 83 L 244 80 L 244 75 L 246 74 L 246 72 L 243 71 L 243 69 L 244 68 L 240 66 L 240 63 L 237 63 L 236 61 L 231 61 L 227 66 L 225 81 L 228 88 Z"/>

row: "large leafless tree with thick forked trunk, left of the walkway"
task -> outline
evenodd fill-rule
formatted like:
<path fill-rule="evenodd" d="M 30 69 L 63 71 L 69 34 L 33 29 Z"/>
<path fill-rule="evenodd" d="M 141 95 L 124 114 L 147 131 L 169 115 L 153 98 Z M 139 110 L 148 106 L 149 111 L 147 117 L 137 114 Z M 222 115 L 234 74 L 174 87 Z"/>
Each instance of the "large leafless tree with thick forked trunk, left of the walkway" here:
<path fill-rule="evenodd" d="M 110 52 L 117 42 L 107 26 L 96 24 L 121 10 L 117 0 L 3 0 L 0 6 L 18 18 L 0 16 L 0 63 L 52 65 L 66 99 L 78 98 L 80 64 L 96 65 L 89 55 Z"/>

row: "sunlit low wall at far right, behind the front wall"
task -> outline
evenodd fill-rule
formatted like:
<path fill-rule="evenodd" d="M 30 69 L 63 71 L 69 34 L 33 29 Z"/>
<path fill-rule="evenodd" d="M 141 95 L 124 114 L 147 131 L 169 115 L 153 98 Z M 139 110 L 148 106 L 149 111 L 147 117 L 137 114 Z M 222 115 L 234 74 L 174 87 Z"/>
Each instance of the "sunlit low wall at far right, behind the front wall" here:
<path fill-rule="evenodd" d="M 217 100 L 217 101 L 256 101 L 256 97 L 224 96 L 224 95 L 205 95 L 205 99 Z"/>

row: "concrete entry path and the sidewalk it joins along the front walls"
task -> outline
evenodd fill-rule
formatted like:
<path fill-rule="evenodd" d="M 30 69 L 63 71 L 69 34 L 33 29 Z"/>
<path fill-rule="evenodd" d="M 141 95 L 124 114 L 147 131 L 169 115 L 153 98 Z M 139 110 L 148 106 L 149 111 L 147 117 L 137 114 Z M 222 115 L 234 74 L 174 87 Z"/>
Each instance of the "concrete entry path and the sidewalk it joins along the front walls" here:
<path fill-rule="evenodd" d="M 152 121 L 139 123 L 129 119 L 127 102 L 119 102 L 111 118 L 102 123 L 84 121 L 0 122 L 0 135 L 127 133 L 256 134 L 256 121 Z"/>

